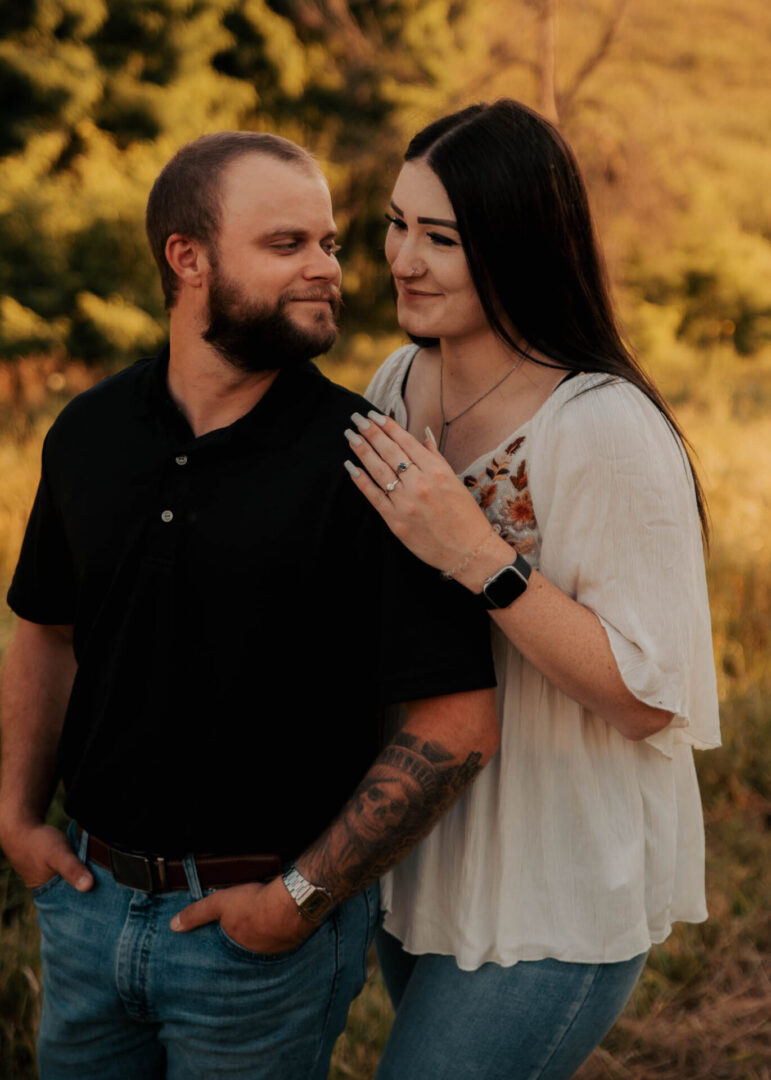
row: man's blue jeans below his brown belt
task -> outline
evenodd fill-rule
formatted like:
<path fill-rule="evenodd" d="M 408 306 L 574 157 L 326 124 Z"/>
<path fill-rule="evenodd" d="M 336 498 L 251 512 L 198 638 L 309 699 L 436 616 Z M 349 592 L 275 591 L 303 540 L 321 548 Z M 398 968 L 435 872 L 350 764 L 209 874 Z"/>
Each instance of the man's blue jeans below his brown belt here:
<path fill-rule="evenodd" d="M 70 838 L 72 833 L 70 833 Z M 81 843 L 81 858 L 84 852 Z M 377 886 L 342 904 L 299 947 L 252 953 L 219 923 L 175 933 L 202 895 L 146 894 L 90 865 L 79 893 L 33 890 L 41 931 L 40 1080 L 323 1080 L 366 978 Z"/>

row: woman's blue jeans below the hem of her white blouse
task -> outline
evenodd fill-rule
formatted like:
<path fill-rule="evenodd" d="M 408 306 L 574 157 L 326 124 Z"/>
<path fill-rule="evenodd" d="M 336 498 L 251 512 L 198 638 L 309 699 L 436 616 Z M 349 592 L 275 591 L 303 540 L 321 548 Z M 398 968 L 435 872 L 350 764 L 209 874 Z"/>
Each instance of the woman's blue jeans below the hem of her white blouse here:
<path fill-rule="evenodd" d="M 461 971 L 376 937 L 396 1009 L 377 1080 L 567 1080 L 624 1008 L 646 953 L 621 963 L 520 961 Z"/>

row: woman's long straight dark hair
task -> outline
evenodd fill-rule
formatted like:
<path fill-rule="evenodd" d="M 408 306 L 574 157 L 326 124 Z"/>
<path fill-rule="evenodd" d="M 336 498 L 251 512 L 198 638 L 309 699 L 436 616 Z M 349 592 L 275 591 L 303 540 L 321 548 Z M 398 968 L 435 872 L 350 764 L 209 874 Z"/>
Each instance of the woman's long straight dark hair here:
<path fill-rule="evenodd" d="M 424 159 L 444 185 L 496 334 L 522 353 L 506 329 L 513 326 L 555 366 L 626 379 L 687 446 L 666 402 L 623 341 L 586 190 L 559 132 L 527 106 L 503 98 L 429 124 L 404 158 Z M 689 460 L 706 540 L 706 502 L 690 455 Z"/>

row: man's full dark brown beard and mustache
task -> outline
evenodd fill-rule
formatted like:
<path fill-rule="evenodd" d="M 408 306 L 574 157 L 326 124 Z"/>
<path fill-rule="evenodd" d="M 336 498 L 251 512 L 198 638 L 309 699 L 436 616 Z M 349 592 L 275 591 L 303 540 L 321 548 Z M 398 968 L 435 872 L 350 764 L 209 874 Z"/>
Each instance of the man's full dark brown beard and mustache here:
<path fill-rule="evenodd" d="M 319 310 L 313 325 L 300 326 L 286 313 L 293 300 L 328 300 L 330 314 Z M 208 288 L 208 326 L 202 337 L 243 372 L 272 370 L 328 352 L 337 340 L 339 310 L 340 292 L 332 284 L 284 293 L 273 307 L 249 301 L 215 265 Z"/>

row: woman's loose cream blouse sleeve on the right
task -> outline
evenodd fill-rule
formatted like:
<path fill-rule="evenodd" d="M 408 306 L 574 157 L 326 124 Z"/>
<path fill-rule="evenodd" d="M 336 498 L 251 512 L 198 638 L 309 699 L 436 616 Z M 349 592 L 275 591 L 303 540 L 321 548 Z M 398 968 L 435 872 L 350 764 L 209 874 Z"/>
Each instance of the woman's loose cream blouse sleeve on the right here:
<path fill-rule="evenodd" d="M 648 740 L 719 744 L 709 607 L 681 443 L 627 382 L 571 386 L 530 448 L 540 569 L 596 613 L 625 685 L 674 714 Z M 573 380 L 578 382 L 578 380 Z"/>

